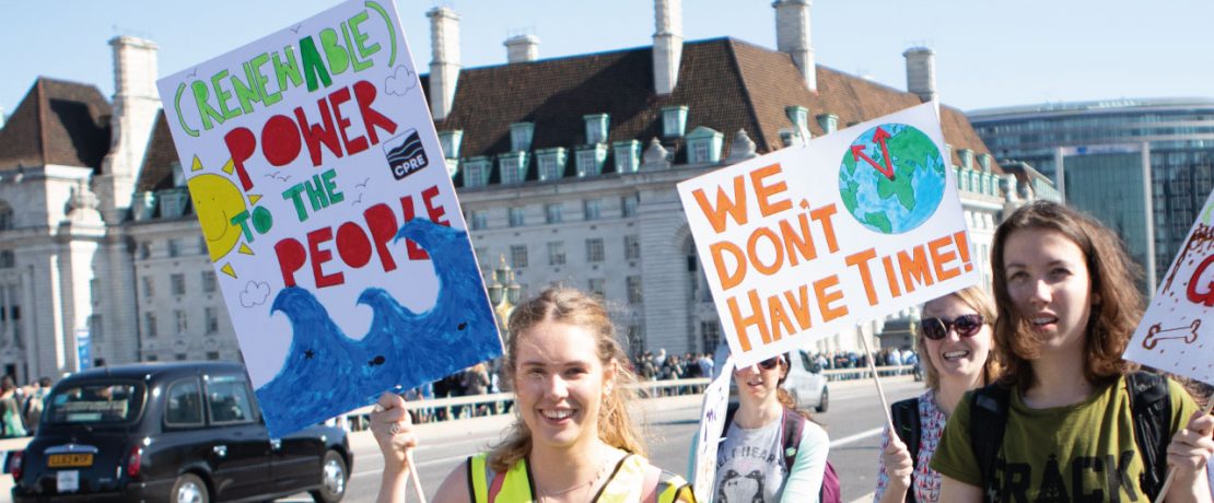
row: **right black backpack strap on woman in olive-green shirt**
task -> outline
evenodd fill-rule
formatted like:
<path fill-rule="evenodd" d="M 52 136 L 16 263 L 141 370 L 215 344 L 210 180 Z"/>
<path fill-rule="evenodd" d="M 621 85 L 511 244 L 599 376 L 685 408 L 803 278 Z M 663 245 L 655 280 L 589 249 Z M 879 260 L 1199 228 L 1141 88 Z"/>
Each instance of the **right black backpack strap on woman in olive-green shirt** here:
<path fill-rule="evenodd" d="M 1142 493 L 1156 501 L 1163 488 L 1163 476 L 1168 471 L 1168 443 L 1170 442 L 1172 396 L 1168 379 L 1150 372 L 1125 375 L 1129 391 L 1130 414 L 1134 419 L 1134 443 L 1142 456 Z"/>

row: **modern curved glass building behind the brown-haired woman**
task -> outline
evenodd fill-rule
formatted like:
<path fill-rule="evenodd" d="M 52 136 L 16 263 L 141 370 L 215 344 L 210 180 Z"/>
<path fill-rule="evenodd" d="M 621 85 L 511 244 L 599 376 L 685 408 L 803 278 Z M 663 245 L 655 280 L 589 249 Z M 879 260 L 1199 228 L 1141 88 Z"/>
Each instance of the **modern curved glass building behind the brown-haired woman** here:
<path fill-rule="evenodd" d="M 1116 230 L 1146 270 L 1148 292 L 1214 188 L 1214 98 L 1044 103 L 968 115 L 1000 164 L 1028 163 L 1068 204 Z"/>

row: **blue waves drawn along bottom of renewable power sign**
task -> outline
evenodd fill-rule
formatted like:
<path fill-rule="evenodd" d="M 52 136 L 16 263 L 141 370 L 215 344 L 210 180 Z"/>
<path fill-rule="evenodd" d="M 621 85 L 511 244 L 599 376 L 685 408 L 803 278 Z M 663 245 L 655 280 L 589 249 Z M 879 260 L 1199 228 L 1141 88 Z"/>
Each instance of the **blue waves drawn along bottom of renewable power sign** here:
<path fill-rule="evenodd" d="M 401 227 L 396 239 L 403 238 L 430 254 L 438 275 L 438 299 L 429 311 L 413 312 L 386 290 L 368 288 L 357 304 L 371 309 L 371 326 L 354 340 L 311 292 L 291 287 L 274 298 L 271 312 L 287 315 L 293 337 L 283 368 L 256 390 L 271 437 L 374 403 L 384 390 L 414 388 L 501 355 L 467 233 L 419 217 Z"/>

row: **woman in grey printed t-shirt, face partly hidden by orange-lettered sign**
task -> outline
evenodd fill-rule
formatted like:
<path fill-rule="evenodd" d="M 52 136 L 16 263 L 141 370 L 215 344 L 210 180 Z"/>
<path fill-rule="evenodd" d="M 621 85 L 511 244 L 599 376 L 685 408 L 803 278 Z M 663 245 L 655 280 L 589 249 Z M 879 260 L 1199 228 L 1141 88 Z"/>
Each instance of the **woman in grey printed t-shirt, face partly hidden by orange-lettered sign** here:
<path fill-rule="evenodd" d="M 788 364 L 781 355 L 733 371 L 738 408 L 716 451 L 715 503 L 819 501 L 830 440 L 781 386 Z M 787 456 L 784 433 L 798 429 L 800 437 L 788 446 L 793 456 Z"/>

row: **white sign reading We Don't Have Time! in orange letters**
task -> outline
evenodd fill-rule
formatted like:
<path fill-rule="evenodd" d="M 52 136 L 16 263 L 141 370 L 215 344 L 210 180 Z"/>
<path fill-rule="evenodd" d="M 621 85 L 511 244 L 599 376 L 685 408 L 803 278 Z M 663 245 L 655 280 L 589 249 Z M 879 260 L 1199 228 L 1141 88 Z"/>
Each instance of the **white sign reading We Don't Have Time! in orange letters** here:
<path fill-rule="evenodd" d="M 980 281 L 934 103 L 679 185 L 738 366 Z"/>

